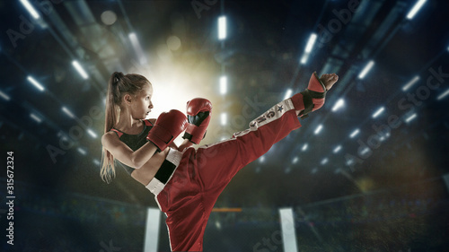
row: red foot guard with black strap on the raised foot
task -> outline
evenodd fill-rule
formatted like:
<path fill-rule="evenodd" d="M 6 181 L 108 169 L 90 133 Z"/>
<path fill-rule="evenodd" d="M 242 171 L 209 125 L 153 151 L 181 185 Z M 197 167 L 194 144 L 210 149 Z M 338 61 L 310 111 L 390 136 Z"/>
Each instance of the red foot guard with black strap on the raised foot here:
<path fill-rule="evenodd" d="M 326 92 L 326 86 L 314 72 L 305 91 L 297 93 L 292 97 L 296 111 L 301 111 L 298 117 L 308 117 L 310 112 L 320 109 L 324 105 Z"/>

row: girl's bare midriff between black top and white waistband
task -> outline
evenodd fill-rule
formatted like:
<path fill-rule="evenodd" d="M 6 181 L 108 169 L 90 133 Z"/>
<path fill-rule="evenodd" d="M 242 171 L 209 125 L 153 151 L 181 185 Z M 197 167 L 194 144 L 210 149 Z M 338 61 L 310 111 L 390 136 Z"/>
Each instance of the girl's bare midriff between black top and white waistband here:
<path fill-rule="evenodd" d="M 147 161 L 140 169 L 135 169 L 131 173 L 131 177 L 136 179 L 142 185 L 146 186 L 154 178 L 157 170 L 163 164 L 170 148 L 166 148 L 163 152 L 156 152 L 154 156 Z"/>

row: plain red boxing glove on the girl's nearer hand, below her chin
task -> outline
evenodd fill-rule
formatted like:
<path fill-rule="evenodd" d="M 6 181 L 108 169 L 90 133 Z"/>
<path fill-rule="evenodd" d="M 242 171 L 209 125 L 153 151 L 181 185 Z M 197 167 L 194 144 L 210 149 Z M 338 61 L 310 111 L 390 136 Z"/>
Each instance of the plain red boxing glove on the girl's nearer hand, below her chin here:
<path fill-rule="evenodd" d="M 180 110 L 172 109 L 157 117 L 156 123 L 146 139 L 157 146 L 159 151 L 165 150 L 187 127 L 187 117 Z"/>

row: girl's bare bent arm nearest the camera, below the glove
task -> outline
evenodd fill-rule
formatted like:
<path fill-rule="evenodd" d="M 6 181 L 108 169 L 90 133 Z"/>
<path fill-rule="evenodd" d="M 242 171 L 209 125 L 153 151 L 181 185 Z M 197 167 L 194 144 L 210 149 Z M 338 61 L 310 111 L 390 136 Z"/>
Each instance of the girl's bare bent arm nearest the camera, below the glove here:
<path fill-rule="evenodd" d="M 148 142 L 134 152 L 112 132 L 101 136 L 101 144 L 115 159 L 136 169 L 141 168 L 146 161 L 150 160 L 157 150 L 154 143 Z"/>

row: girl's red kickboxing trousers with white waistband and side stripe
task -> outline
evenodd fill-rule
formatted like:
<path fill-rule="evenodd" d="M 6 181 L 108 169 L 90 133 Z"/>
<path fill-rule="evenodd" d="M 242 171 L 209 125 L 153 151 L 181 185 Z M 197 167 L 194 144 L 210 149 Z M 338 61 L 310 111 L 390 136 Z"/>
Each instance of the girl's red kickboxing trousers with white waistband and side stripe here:
<path fill-rule="evenodd" d="M 288 99 L 229 140 L 204 145 L 198 150 L 189 148 L 183 153 L 171 150 L 169 156 L 179 165 L 175 163 L 178 167 L 172 178 L 162 191 L 155 193 L 155 198 L 167 215 L 172 251 L 202 251 L 207 219 L 229 181 L 300 126 L 293 103 Z"/>

